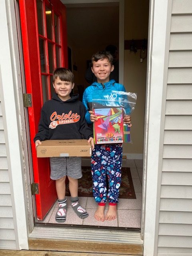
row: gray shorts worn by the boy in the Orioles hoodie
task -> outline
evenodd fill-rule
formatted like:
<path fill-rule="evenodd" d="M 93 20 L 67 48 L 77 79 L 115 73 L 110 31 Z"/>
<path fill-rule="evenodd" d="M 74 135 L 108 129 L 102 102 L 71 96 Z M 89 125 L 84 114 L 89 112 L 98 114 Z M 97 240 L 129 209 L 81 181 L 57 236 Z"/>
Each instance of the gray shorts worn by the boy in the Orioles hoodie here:
<path fill-rule="evenodd" d="M 52 180 L 58 180 L 64 176 L 74 179 L 82 177 L 81 157 L 50 157 Z"/>

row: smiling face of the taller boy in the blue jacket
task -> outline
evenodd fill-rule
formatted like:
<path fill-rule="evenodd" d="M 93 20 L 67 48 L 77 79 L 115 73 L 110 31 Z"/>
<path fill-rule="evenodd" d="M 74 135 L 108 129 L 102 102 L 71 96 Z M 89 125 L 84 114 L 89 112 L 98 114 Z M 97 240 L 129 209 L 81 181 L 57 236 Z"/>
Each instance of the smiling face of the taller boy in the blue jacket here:
<path fill-rule="evenodd" d="M 113 70 L 114 66 L 111 65 L 107 58 L 93 62 L 92 72 L 96 76 L 98 83 L 108 82 L 110 73 Z"/>

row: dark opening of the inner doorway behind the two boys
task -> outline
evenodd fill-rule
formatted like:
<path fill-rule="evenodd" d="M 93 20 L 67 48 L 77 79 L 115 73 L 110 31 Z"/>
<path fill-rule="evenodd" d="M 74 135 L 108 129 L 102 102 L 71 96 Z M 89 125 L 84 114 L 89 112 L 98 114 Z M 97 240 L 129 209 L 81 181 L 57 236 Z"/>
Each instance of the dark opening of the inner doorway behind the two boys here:
<path fill-rule="evenodd" d="M 75 84 L 86 88 L 90 85 L 84 78 L 87 60 L 91 60 L 95 52 L 104 50 L 109 44 L 118 47 L 119 7 L 98 4 L 94 7 L 67 7 L 66 15 L 72 66 L 77 67 L 77 71 L 73 69 Z"/>

